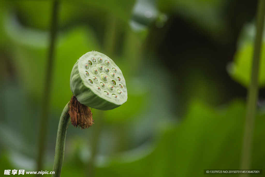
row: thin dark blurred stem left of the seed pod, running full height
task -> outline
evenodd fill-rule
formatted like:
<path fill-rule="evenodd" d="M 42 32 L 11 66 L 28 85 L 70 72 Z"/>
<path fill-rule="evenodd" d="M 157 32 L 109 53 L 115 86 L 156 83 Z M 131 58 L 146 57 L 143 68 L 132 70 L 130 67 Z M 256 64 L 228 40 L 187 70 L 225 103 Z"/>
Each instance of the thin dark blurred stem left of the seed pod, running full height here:
<path fill-rule="evenodd" d="M 43 102 L 42 102 L 42 111 L 41 111 L 41 121 L 40 121 L 40 134 L 39 134 L 39 145 L 38 145 L 38 158 L 37 158 L 37 171 L 43 170 L 43 156 L 46 148 L 46 139 L 47 139 L 47 123 L 48 123 L 48 110 L 50 107 L 50 92 L 51 92 L 51 80 L 52 80 L 52 71 L 53 71 L 53 59 L 54 59 L 54 48 L 55 48 L 55 38 L 57 34 L 57 25 L 58 25 L 58 6 L 59 2 L 55 0 L 53 2 L 52 8 L 52 19 L 50 26 L 50 46 L 48 50 L 48 63 L 46 69 L 46 78 L 44 83 L 44 93 L 43 93 Z M 37 175 L 40 176 L 40 175 Z"/>

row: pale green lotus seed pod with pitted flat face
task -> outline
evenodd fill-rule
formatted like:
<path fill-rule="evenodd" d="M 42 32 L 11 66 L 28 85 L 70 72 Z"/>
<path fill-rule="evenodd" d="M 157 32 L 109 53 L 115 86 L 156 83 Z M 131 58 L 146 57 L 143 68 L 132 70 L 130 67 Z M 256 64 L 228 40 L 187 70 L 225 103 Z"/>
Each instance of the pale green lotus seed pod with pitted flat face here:
<path fill-rule="evenodd" d="M 86 53 L 74 64 L 70 88 L 80 103 L 99 110 L 111 110 L 127 101 L 120 68 L 112 59 L 95 51 Z"/>

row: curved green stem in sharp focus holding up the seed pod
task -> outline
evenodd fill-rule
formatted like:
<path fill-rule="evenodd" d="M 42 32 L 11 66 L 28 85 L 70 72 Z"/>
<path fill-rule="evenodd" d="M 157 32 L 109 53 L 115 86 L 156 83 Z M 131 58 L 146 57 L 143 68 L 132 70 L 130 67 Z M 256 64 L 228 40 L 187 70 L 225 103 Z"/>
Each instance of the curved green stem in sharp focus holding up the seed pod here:
<path fill-rule="evenodd" d="M 52 177 L 61 176 L 63 160 L 64 160 L 65 137 L 66 137 L 66 131 L 68 128 L 69 118 L 70 118 L 70 115 L 68 114 L 69 106 L 70 106 L 70 101 L 64 107 L 64 110 L 60 118 L 59 126 L 58 126 L 55 156 L 54 156 L 55 158 L 54 158 L 54 165 L 52 169 L 52 171 L 54 171 L 55 173 L 52 174 Z"/>

